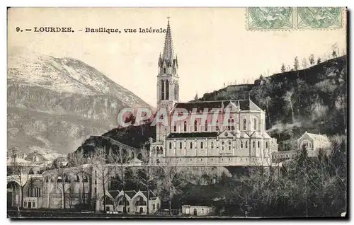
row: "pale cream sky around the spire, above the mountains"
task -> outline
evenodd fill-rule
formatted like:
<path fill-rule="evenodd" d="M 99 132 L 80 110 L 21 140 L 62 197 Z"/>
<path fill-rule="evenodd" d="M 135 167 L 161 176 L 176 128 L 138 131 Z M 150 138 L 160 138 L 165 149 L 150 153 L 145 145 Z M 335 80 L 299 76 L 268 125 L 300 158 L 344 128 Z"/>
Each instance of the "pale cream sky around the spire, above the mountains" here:
<path fill-rule="evenodd" d="M 10 8 L 8 49 L 26 47 L 52 57 L 72 57 L 156 106 L 156 76 L 164 33 L 124 33 L 125 28 L 166 28 L 170 17 L 178 56 L 180 101 L 196 93 L 242 83 L 292 67 L 294 58 L 324 58 L 333 45 L 346 48 L 346 29 L 252 31 L 246 8 Z M 17 32 L 16 28 L 23 32 Z M 35 33 L 25 28 L 71 27 L 74 33 Z M 118 28 L 122 33 L 86 33 Z M 83 31 L 78 31 L 82 29 Z"/>

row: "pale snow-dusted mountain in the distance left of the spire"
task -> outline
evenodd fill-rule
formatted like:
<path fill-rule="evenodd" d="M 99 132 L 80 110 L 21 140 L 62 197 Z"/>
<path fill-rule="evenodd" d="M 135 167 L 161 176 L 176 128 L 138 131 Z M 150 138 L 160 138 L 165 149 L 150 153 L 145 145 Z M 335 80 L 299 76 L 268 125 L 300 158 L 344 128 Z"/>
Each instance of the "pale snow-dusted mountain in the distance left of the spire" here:
<path fill-rule="evenodd" d="M 67 154 L 117 127 L 122 108 L 151 108 L 84 62 L 23 48 L 8 50 L 7 95 L 8 149 L 25 153 Z"/>

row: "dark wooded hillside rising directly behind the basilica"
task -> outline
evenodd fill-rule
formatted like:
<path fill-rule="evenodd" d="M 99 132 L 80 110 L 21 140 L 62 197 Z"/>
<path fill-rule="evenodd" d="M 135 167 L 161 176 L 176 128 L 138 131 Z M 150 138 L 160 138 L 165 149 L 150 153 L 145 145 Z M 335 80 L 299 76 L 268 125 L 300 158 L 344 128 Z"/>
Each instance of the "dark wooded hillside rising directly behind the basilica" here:
<path fill-rule="evenodd" d="M 343 56 L 307 69 L 262 77 L 254 84 L 227 86 L 205 93 L 197 101 L 251 98 L 265 111 L 266 129 L 278 139 L 282 151 L 294 147 L 292 144 L 305 131 L 329 136 L 346 134 L 347 86 L 347 58 Z M 112 129 L 103 135 L 139 147 L 155 134 L 156 127 L 147 124 Z M 92 142 L 109 147 L 108 142 L 96 137 L 85 143 Z"/>

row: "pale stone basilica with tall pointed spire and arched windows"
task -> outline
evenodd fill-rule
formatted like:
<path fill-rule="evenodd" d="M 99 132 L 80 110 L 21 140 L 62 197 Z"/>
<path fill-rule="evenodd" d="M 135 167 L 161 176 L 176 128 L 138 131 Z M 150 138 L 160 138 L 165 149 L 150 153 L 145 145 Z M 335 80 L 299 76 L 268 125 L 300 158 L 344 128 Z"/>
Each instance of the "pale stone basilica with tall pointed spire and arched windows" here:
<path fill-rule="evenodd" d="M 265 132 L 265 112 L 251 98 L 178 101 L 178 59 L 169 22 L 158 66 L 156 110 L 166 109 L 169 123 L 156 123 L 156 138 L 150 139 L 152 163 L 171 162 L 180 166 L 268 166 L 271 163 L 272 153 L 278 151 L 277 140 Z M 187 115 L 172 123 L 173 115 L 181 111 Z"/>

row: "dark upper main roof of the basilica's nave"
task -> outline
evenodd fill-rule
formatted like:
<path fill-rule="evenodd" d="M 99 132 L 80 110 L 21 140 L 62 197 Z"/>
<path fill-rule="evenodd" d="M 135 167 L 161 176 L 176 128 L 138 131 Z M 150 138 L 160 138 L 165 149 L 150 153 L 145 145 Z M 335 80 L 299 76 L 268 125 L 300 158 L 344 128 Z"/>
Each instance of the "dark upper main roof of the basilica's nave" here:
<path fill-rule="evenodd" d="M 229 103 L 234 103 L 240 110 L 261 110 L 256 104 L 251 100 L 214 100 L 214 101 L 202 101 L 202 102 L 190 102 L 190 103 L 176 103 L 175 109 L 184 108 L 188 112 L 193 112 L 193 109 L 204 111 L 205 108 L 212 110 L 213 108 L 224 109 L 229 105 Z M 250 108 L 251 103 L 251 108 Z"/>

